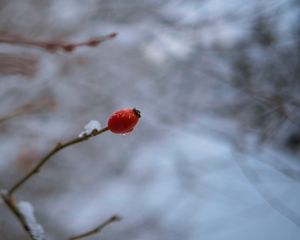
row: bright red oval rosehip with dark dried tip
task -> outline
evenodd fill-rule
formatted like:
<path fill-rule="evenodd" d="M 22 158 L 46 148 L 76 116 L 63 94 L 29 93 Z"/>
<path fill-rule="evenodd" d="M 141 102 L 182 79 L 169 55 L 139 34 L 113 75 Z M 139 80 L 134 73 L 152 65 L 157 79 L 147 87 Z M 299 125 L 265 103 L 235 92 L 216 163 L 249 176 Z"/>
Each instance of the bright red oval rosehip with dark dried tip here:
<path fill-rule="evenodd" d="M 113 133 L 125 134 L 131 132 L 141 117 L 141 112 L 135 108 L 125 108 L 114 112 L 108 119 L 108 129 Z"/>

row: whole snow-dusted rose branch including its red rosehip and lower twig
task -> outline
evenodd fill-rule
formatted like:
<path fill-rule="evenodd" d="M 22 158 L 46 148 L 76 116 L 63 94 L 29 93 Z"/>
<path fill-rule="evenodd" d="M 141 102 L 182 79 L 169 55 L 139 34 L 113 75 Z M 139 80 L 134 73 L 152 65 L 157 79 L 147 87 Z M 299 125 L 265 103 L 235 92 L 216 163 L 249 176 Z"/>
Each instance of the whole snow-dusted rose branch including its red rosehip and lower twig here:
<path fill-rule="evenodd" d="M 120 115 L 121 113 L 121 115 Z M 130 117 L 135 116 L 134 121 L 129 121 Z M 134 126 L 138 122 L 138 118 L 140 117 L 140 112 L 133 109 L 122 109 L 114 114 L 109 118 L 108 125 L 111 121 L 111 119 L 114 120 L 115 124 L 119 124 L 119 126 L 123 127 L 123 131 L 128 130 L 128 123 L 130 127 L 130 131 L 133 130 Z M 117 122 L 115 120 L 118 120 Z M 132 120 L 132 118 L 131 118 Z M 125 123 L 125 124 L 124 124 Z M 125 128 L 125 129 L 124 129 Z M 65 143 L 59 142 L 52 150 L 50 150 L 36 165 L 35 167 L 29 171 L 23 178 L 21 178 L 19 181 L 17 181 L 13 187 L 11 187 L 8 191 L 3 191 L 1 193 L 1 196 L 8 206 L 8 208 L 13 212 L 13 214 L 16 216 L 16 218 L 20 221 L 25 231 L 28 233 L 28 235 L 31 237 L 32 240 L 44 240 L 44 231 L 42 229 L 42 226 L 37 223 L 35 220 L 34 214 L 33 214 L 33 208 L 32 206 L 27 202 L 21 202 L 19 204 L 16 204 L 16 201 L 13 198 L 13 194 L 23 185 L 25 184 L 34 174 L 38 173 L 41 169 L 41 167 L 56 153 L 61 151 L 64 148 L 67 148 L 69 146 L 72 146 L 74 144 L 86 141 L 90 139 L 91 137 L 98 136 L 99 134 L 102 134 L 108 130 L 111 130 L 107 126 L 105 128 L 100 129 L 100 124 L 96 120 L 90 121 L 85 127 L 84 131 L 79 134 L 78 137 L 71 139 Z M 120 132 L 116 132 L 120 133 Z M 95 234 L 97 232 L 100 232 L 105 226 L 109 225 L 112 222 L 121 220 L 118 216 L 112 216 L 110 219 L 96 227 L 95 229 L 92 229 L 86 233 L 83 233 L 79 236 L 72 237 L 71 240 L 83 238 L 85 236 L 90 236 L 92 234 Z"/>

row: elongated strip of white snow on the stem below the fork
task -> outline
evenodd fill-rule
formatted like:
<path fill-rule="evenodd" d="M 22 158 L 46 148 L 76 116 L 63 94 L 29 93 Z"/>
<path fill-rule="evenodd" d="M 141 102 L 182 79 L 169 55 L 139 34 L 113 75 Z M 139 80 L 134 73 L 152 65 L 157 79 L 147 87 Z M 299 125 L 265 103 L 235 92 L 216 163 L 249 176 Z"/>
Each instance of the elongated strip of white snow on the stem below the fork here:
<path fill-rule="evenodd" d="M 17 208 L 24 220 L 27 223 L 28 230 L 31 233 L 33 239 L 35 240 L 46 240 L 45 232 L 34 216 L 33 206 L 29 202 L 21 201 L 17 204 Z"/>

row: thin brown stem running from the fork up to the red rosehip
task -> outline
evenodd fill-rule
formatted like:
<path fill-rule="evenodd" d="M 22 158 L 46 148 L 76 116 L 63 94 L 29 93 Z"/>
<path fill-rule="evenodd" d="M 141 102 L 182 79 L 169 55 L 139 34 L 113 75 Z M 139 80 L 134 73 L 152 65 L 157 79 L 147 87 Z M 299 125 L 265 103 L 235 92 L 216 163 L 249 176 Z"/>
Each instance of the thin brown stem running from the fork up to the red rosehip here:
<path fill-rule="evenodd" d="M 39 161 L 39 163 L 29 173 L 27 173 L 22 179 L 20 179 L 18 182 L 16 182 L 15 185 L 13 185 L 13 187 L 10 190 L 8 190 L 8 196 L 11 197 L 18 188 L 20 188 L 24 183 L 26 183 L 34 174 L 38 173 L 40 168 L 56 153 L 58 153 L 59 151 L 61 151 L 62 149 L 66 148 L 66 147 L 69 147 L 69 146 L 74 145 L 79 142 L 86 141 L 89 138 L 97 136 L 107 130 L 108 130 L 108 127 L 105 127 L 99 131 L 94 130 L 92 133 L 86 134 L 83 137 L 77 137 L 77 138 L 69 140 L 65 143 L 58 143 L 50 152 L 48 152 L 48 154 L 46 154 Z"/>

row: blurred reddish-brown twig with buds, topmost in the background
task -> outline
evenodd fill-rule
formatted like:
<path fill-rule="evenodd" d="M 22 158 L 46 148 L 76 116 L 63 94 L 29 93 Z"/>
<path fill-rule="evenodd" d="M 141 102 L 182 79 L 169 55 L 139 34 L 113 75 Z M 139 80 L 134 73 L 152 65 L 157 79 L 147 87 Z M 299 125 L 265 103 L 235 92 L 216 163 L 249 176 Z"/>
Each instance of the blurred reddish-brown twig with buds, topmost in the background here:
<path fill-rule="evenodd" d="M 107 40 L 110 40 L 117 36 L 117 33 L 110 33 L 104 36 L 94 37 L 87 41 L 78 42 L 78 43 L 66 43 L 59 41 L 37 41 L 32 40 L 20 35 L 11 35 L 11 34 L 0 34 L 0 43 L 11 44 L 11 45 L 20 45 L 25 47 L 37 47 L 42 48 L 49 52 L 72 52 L 78 47 L 96 47 L 100 43 L 103 43 Z"/>

